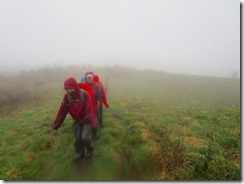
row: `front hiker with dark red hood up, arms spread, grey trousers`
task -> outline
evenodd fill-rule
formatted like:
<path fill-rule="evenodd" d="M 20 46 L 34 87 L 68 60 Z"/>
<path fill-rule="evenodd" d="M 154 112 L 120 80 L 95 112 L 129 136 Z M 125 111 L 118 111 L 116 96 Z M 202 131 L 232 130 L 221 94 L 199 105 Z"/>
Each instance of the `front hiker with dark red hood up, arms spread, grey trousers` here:
<path fill-rule="evenodd" d="M 79 89 L 74 78 L 68 78 L 64 82 L 63 101 L 53 121 L 52 128 L 58 130 L 69 113 L 74 120 L 74 149 L 77 155 L 74 160 L 91 157 L 93 143 L 91 139 L 92 129 L 97 128 L 96 115 L 92 106 L 91 97 L 83 89 Z M 86 149 L 86 153 L 85 153 Z"/>

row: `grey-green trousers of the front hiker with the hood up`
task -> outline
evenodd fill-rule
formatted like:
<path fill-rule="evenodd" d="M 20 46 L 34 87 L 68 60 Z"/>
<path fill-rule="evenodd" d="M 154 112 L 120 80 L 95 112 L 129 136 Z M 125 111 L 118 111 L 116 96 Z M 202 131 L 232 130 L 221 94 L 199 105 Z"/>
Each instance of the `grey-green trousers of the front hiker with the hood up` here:
<path fill-rule="evenodd" d="M 85 150 L 91 150 L 92 144 L 92 126 L 91 125 L 80 125 L 74 123 L 74 149 L 76 153 L 81 153 Z"/>

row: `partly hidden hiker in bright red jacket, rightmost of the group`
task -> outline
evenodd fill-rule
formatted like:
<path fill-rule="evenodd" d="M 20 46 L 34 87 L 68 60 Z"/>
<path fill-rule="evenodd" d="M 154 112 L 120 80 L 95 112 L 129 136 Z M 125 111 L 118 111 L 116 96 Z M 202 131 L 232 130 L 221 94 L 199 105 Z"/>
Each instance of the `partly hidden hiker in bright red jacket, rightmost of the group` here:
<path fill-rule="evenodd" d="M 99 81 L 98 75 L 94 75 L 93 82 L 96 89 L 95 96 L 96 96 L 96 103 L 97 103 L 97 111 L 96 111 L 97 121 L 98 124 L 101 127 L 103 127 L 103 104 L 106 106 L 106 108 L 109 108 L 109 104 L 107 102 L 107 97 L 106 97 L 103 83 Z"/>

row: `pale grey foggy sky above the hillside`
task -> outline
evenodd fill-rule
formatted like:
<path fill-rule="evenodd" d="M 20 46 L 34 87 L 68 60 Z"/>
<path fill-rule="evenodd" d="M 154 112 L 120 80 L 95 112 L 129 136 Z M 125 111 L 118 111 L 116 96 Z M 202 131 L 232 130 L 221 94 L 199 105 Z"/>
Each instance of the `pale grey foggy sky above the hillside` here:
<path fill-rule="evenodd" d="M 0 72 L 69 64 L 240 72 L 237 0 L 6 0 L 0 25 Z"/>

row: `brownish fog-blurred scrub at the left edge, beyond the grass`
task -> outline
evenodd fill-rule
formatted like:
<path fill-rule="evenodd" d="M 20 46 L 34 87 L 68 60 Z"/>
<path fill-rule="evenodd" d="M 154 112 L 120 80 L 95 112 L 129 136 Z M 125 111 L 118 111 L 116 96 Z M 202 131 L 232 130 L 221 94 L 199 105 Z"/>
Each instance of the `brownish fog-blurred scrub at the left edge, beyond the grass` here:
<path fill-rule="evenodd" d="M 63 68 L 42 68 L 20 72 L 18 74 L 0 75 L 0 109 L 10 110 L 21 104 L 39 103 L 45 100 L 47 84 L 62 78 Z"/>

